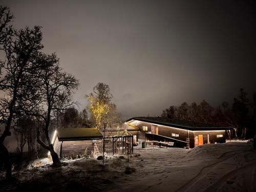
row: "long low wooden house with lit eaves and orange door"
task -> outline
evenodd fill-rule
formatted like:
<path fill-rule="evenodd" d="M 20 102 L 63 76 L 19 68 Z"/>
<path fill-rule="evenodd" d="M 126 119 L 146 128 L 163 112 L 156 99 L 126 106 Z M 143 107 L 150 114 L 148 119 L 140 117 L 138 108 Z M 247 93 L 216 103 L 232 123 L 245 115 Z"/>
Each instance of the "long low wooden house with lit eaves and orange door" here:
<path fill-rule="evenodd" d="M 170 120 L 160 117 L 133 117 L 125 121 L 127 129 L 137 141 L 156 140 L 174 142 L 174 147 L 196 147 L 209 143 L 224 143 L 231 127 L 217 127 L 203 123 Z M 189 144 L 189 145 L 188 145 Z"/>

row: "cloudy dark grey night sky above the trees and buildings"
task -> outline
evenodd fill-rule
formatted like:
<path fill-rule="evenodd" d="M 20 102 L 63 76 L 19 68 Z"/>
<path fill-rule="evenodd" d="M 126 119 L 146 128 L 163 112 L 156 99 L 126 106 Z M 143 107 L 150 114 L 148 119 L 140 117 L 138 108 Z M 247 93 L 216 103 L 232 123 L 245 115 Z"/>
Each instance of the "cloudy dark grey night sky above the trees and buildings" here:
<path fill-rule="evenodd" d="M 249 1 L 1 1 L 13 26 L 42 26 L 44 52 L 80 79 L 75 99 L 109 84 L 124 118 L 256 91 L 256 15 Z"/>

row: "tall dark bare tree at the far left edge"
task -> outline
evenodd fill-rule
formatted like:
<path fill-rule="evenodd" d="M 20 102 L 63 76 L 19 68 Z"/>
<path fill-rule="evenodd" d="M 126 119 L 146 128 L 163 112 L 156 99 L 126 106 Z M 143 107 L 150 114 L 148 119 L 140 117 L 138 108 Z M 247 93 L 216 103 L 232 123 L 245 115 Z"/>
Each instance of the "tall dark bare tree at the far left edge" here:
<path fill-rule="evenodd" d="M 41 45 L 42 34 L 40 27 L 24 30 L 13 30 L 11 38 L 5 39 L 3 51 L 5 60 L 0 62 L 1 80 L 0 90 L 5 94 L 0 99 L 1 121 L 5 123 L 5 130 L 0 137 L 0 152 L 3 153 L 7 168 L 6 178 L 11 178 L 11 164 L 9 153 L 3 142 L 7 136 L 11 135 L 10 129 L 14 120 L 21 115 L 24 108 L 30 106 L 26 102 L 26 97 L 33 97 L 26 91 L 32 86 L 30 75 L 36 71 L 35 60 Z"/>

